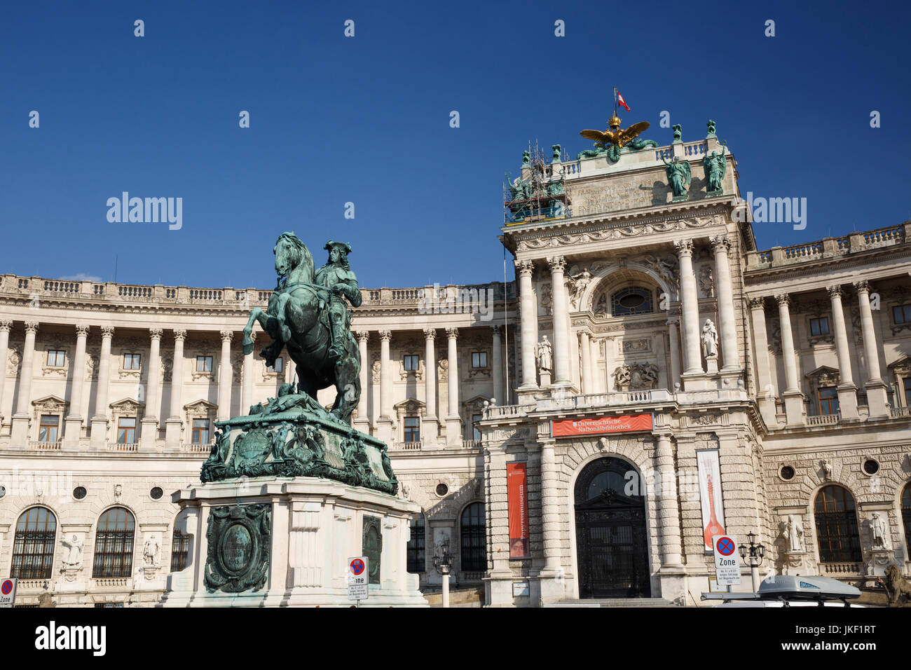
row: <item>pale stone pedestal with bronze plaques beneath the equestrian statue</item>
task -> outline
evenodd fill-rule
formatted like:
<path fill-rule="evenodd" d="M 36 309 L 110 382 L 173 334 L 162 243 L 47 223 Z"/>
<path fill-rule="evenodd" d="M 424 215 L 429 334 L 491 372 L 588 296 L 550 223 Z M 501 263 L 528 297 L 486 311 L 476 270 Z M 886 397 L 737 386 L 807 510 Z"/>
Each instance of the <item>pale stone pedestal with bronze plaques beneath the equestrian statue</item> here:
<path fill-rule="evenodd" d="M 210 482 L 173 500 L 192 538 L 160 607 L 347 607 L 348 560 L 361 555 L 371 557 L 362 607 L 426 606 L 406 572 L 414 502 L 312 477 Z"/>

